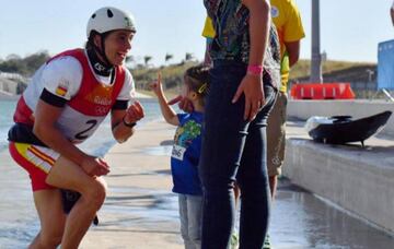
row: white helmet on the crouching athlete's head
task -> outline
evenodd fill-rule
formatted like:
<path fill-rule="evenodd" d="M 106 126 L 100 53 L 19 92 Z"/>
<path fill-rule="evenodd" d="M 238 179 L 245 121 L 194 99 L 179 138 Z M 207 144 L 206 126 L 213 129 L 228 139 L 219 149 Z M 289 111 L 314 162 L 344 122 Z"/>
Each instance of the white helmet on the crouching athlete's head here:
<path fill-rule="evenodd" d="M 131 14 L 128 14 L 113 7 L 104 7 L 96 10 L 89 19 L 86 27 L 86 37 L 92 31 L 103 34 L 108 31 L 128 29 L 136 32 L 135 21 Z"/>

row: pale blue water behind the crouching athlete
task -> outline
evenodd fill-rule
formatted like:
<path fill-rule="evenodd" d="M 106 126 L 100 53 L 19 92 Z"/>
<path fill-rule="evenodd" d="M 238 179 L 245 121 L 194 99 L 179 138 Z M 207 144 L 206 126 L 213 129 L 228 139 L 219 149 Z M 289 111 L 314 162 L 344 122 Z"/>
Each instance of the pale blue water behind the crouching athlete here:
<path fill-rule="evenodd" d="M 161 117 L 160 107 L 154 98 L 140 98 L 146 117 L 137 126 L 159 119 Z M 16 100 L 0 100 L 0 152 L 7 150 L 7 134 L 13 124 L 12 116 L 15 110 Z M 99 127 L 96 132 L 84 143 L 79 145 L 84 152 L 103 157 L 105 153 L 116 143 L 112 135 L 109 116 Z"/>

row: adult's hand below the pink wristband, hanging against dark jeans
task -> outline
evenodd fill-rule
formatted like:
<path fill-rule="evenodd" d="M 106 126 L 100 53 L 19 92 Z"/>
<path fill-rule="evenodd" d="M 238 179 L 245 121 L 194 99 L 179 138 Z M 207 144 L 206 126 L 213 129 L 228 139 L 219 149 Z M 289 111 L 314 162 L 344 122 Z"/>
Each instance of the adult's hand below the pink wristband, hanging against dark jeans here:
<path fill-rule="evenodd" d="M 245 95 L 244 119 L 252 121 L 265 104 L 262 75 L 246 74 L 237 87 L 232 103 L 237 102 L 242 94 Z"/>

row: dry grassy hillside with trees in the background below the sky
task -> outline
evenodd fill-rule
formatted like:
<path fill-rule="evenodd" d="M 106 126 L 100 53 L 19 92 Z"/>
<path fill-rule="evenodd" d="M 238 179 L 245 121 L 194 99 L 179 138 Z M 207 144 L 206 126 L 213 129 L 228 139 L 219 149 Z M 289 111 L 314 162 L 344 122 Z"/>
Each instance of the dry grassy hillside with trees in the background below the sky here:
<path fill-rule="evenodd" d="M 10 64 L 13 64 L 14 67 L 21 67 L 21 64 L 28 64 L 28 72 L 32 72 L 36 69 L 38 63 L 40 62 L 43 58 L 45 58 L 45 54 L 38 54 L 34 57 L 27 57 L 25 59 L 13 59 L 10 61 L 2 61 L 0 63 L 0 71 L 13 71 L 9 67 Z M 27 63 L 28 61 L 30 63 Z M 31 62 L 31 61 L 34 61 Z M 18 63 L 16 63 L 18 62 Z M 177 94 L 179 86 L 183 83 L 183 75 L 187 68 L 198 64 L 198 61 L 187 61 L 187 62 L 181 62 L 177 64 L 169 64 L 169 66 L 162 66 L 159 68 L 144 68 L 139 67 L 137 69 L 130 69 L 135 82 L 136 87 L 139 92 L 152 95 L 152 93 L 149 91 L 149 83 L 154 81 L 158 78 L 158 73 L 161 72 L 162 79 L 163 79 L 163 88 L 167 93 L 169 97 L 172 95 Z M 13 69 L 13 68 L 12 68 Z M 14 71 L 21 71 L 21 70 L 14 70 Z M 369 72 L 373 72 L 372 78 Z M 309 73 L 310 73 L 310 60 L 300 60 L 292 69 L 290 73 L 290 81 L 297 81 L 297 82 L 308 82 L 309 80 Z M 325 61 L 323 63 L 323 78 L 325 82 L 370 82 L 375 81 L 376 78 L 376 66 L 373 63 L 366 63 L 366 62 L 348 62 L 348 61 Z M 28 73 L 26 73 L 28 74 Z M 19 84 L 15 82 L 15 84 Z M 23 85 L 18 86 L 20 87 L 18 90 L 18 93 L 22 92 L 23 88 L 21 88 Z M 14 93 L 15 86 L 13 86 L 13 90 L 9 90 L 10 84 L 0 84 L 0 90 L 4 92 Z"/>

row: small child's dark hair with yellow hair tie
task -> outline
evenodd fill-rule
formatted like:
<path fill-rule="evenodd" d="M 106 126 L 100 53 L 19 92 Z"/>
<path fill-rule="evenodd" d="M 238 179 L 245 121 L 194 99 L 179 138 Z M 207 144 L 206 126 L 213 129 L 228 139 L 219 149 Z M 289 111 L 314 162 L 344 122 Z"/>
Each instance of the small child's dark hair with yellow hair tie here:
<path fill-rule="evenodd" d="M 185 72 L 185 84 L 198 94 L 202 106 L 209 88 L 209 69 L 208 66 L 200 64 L 188 68 Z"/>

